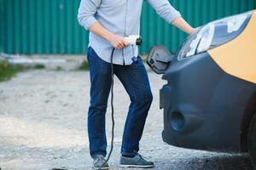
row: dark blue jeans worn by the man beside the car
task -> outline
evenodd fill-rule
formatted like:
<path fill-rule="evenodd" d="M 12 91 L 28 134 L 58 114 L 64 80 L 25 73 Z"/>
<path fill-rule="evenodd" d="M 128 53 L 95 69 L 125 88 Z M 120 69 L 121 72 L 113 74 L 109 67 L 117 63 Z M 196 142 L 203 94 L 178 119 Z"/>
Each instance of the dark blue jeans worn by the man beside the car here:
<path fill-rule="evenodd" d="M 111 88 L 111 65 L 103 61 L 93 48 L 89 48 L 87 57 L 91 84 L 88 111 L 90 156 L 106 156 L 105 115 Z M 113 72 L 122 82 L 131 99 L 125 121 L 121 154 L 133 156 L 139 150 L 139 141 L 143 135 L 148 110 L 153 99 L 148 74 L 140 57 L 132 65 L 113 65 Z"/>

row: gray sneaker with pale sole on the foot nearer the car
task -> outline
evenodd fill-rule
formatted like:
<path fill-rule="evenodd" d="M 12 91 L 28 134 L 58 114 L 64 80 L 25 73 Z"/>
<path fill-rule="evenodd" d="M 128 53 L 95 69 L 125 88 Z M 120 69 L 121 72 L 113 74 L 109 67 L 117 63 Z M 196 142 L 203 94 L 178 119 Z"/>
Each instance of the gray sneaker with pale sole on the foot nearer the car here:
<path fill-rule="evenodd" d="M 139 154 L 134 157 L 121 156 L 120 167 L 154 167 L 154 162 L 146 161 L 145 158 Z"/>

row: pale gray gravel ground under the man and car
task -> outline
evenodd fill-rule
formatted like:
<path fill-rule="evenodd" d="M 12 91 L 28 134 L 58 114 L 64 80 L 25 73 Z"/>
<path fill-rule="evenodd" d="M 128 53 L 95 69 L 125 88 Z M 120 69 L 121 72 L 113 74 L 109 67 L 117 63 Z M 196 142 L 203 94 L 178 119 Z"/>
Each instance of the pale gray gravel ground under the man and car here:
<path fill-rule="evenodd" d="M 154 102 L 141 140 L 141 153 L 154 169 L 252 169 L 247 155 L 185 150 L 161 139 L 160 76 L 149 72 Z M 89 72 L 26 71 L 0 83 L 0 167 L 5 169 L 91 169 L 86 132 Z M 115 79 L 115 142 L 111 169 L 120 169 L 119 150 L 129 98 Z M 108 144 L 111 130 L 108 108 Z M 124 168 L 123 168 L 124 169 Z"/>

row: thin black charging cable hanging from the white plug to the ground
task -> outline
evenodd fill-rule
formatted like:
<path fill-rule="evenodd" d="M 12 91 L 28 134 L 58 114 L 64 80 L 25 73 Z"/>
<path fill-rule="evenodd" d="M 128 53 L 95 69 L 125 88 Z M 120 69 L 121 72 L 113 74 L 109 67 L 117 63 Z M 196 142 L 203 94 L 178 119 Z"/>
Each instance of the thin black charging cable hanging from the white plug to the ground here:
<path fill-rule="evenodd" d="M 112 50 L 112 53 L 111 53 L 111 59 L 110 59 L 110 62 L 111 62 L 111 116 L 112 116 L 112 138 L 111 138 L 111 147 L 110 147 L 110 151 L 108 153 L 108 157 L 107 157 L 107 160 L 102 164 L 102 167 L 104 165 L 106 165 L 106 163 L 108 163 L 108 160 L 112 154 L 112 151 L 113 151 L 113 138 L 114 138 L 114 118 L 113 118 L 113 52 L 114 52 L 114 48 Z M 99 170 L 102 170 L 102 167 L 99 168 Z"/>

